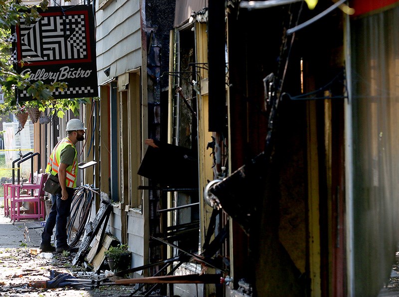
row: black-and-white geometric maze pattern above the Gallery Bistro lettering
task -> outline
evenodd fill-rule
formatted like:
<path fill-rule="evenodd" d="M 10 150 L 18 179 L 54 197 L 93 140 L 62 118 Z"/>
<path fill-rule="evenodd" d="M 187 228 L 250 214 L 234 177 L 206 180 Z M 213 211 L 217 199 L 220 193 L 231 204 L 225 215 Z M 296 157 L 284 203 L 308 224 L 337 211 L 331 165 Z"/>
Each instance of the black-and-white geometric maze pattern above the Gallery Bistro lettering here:
<path fill-rule="evenodd" d="M 21 59 L 29 62 L 86 59 L 85 15 L 46 15 L 20 21 Z"/>

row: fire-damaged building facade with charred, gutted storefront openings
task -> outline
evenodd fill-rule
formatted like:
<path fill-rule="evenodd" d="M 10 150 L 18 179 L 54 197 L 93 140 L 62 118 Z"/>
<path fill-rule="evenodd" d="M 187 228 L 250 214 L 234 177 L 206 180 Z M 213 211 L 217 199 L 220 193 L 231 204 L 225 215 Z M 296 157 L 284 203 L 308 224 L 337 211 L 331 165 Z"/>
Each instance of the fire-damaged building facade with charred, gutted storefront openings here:
<path fill-rule="evenodd" d="M 255 2 L 95 4 L 82 182 L 131 267 L 225 281 L 165 294 L 376 296 L 399 236 L 398 1 Z"/>

